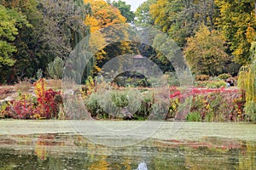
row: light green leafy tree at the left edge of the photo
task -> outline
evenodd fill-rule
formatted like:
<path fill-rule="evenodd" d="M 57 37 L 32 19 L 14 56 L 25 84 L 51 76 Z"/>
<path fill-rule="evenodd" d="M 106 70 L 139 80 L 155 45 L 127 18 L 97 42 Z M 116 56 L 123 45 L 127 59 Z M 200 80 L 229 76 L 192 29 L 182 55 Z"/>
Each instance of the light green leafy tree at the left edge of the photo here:
<path fill-rule="evenodd" d="M 13 66 L 15 59 L 13 54 L 17 48 L 13 45 L 15 37 L 19 34 L 19 28 L 28 26 L 26 16 L 15 12 L 15 10 L 5 8 L 0 5 L 0 68 L 3 66 Z"/>

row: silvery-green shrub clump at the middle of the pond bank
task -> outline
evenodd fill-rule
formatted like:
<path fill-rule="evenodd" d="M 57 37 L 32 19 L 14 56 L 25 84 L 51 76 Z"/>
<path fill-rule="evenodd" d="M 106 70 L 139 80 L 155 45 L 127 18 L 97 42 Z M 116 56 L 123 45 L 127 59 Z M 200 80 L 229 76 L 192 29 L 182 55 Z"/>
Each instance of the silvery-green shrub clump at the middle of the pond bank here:
<path fill-rule="evenodd" d="M 145 120 L 152 111 L 154 96 L 148 91 L 137 93 L 132 88 L 115 89 L 109 93 L 99 90 L 84 99 L 84 104 L 93 118 L 125 119 L 132 115 L 133 119 Z"/>

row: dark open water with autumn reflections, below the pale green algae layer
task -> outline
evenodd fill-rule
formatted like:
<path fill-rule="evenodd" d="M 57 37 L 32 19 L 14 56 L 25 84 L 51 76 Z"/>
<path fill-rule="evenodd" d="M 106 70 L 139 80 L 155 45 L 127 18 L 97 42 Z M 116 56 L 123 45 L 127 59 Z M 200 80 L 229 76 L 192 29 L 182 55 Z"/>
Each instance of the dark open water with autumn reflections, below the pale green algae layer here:
<path fill-rule="evenodd" d="M 72 133 L 2 135 L 0 169 L 256 169 L 256 142 L 152 139 L 108 148 Z"/>

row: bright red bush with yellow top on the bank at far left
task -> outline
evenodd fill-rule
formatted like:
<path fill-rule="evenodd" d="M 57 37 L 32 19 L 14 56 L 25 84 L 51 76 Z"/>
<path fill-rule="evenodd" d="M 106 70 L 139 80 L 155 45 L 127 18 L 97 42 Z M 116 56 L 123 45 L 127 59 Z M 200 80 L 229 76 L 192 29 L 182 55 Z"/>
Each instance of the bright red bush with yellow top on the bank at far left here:
<path fill-rule="evenodd" d="M 46 90 L 46 82 L 40 79 L 35 83 L 37 97 L 28 95 L 20 96 L 20 99 L 10 101 L 0 117 L 14 119 L 50 119 L 57 118 L 60 101 L 56 98 L 61 92 L 52 89 Z"/>

